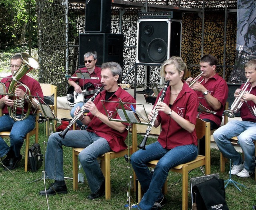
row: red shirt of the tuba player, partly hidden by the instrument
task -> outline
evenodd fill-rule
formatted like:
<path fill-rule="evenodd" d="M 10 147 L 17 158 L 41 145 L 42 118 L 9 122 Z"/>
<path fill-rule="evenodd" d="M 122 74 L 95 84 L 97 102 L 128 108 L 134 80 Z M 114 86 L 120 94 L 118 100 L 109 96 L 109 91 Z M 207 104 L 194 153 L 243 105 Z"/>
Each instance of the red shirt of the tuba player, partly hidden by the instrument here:
<path fill-rule="evenodd" d="M 8 77 L 5 77 L 1 80 L 2 83 L 5 83 L 6 87 L 9 87 L 10 86 L 10 81 L 12 81 L 12 75 L 8 76 Z M 43 91 L 41 89 L 41 86 L 39 84 L 38 81 L 36 81 L 35 79 L 27 76 L 27 75 L 24 75 L 21 79 L 20 79 L 20 82 L 24 85 L 26 85 L 28 87 L 28 89 L 30 90 L 30 93 L 27 92 L 28 95 L 33 95 L 33 96 L 37 96 L 36 93 L 38 93 L 39 97 L 44 97 L 44 94 L 43 94 Z M 26 89 L 25 87 L 23 86 L 19 86 L 18 88 L 24 90 L 26 92 Z M 8 92 L 8 90 L 6 89 L 6 92 Z M 4 95 L 0 95 L 0 99 L 4 97 Z M 9 97 L 10 99 L 12 99 L 12 97 Z M 37 98 L 35 98 L 37 99 Z M 9 114 L 9 111 L 7 109 L 7 106 L 4 105 L 3 107 L 3 114 Z M 26 113 L 28 111 L 28 103 L 25 102 L 25 105 L 24 105 L 24 112 Z M 20 108 L 17 108 L 17 114 L 20 115 L 22 113 L 22 109 Z M 30 115 L 32 115 L 32 110 L 30 111 Z"/>

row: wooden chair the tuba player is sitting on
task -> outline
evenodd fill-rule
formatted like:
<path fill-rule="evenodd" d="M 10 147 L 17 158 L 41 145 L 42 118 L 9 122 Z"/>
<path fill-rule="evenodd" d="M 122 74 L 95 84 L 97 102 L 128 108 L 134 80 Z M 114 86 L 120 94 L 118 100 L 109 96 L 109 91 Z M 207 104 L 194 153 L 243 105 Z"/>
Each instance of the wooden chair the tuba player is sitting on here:
<path fill-rule="evenodd" d="M 28 171 L 28 149 L 29 149 L 29 139 L 31 136 L 36 135 L 35 136 L 35 142 L 38 143 L 38 133 L 39 133 L 39 124 L 38 124 L 38 110 L 36 111 L 37 115 L 36 115 L 36 122 L 35 122 L 35 128 L 28 132 L 26 134 L 26 148 L 25 148 L 25 172 Z M 2 116 L 2 109 L 0 109 L 0 116 Z M 10 137 L 10 132 L 9 131 L 2 131 L 0 132 L 0 136 L 2 138 L 9 138 Z"/>

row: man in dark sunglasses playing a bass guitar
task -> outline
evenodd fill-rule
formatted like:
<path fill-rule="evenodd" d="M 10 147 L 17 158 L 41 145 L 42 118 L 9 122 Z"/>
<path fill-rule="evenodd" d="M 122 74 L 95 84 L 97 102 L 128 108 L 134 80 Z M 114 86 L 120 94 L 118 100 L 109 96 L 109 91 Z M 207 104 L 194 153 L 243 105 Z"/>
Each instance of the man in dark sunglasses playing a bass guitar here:
<path fill-rule="evenodd" d="M 74 111 L 76 110 L 76 107 L 82 107 L 84 105 L 84 98 L 89 99 L 92 97 L 94 93 L 96 93 L 97 89 L 101 87 L 100 83 L 100 67 L 96 66 L 97 62 L 97 52 L 87 52 L 84 54 L 84 68 L 78 69 L 72 77 L 76 76 L 76 73 L 89 73 L 90 77 L 93 79 L 79 79 L 79 78 L 70 78 L 68 79 L 68 84 L 72 86 L 72 89 L 74 89 L 74 93 L 68 94 L 68 99 L 75 99 L 78 95 L 82 95 L 82 101 L 77 101 L 78 103 L 73 103 L 75 101 L 72 101 L 72 103 L 69 103 L 73 108 L 70 111 L 70 115 L 73 118 L 74 117 Z M 95 79 L 98 78 L 98 79 Z M 78 83 L 78 84 L 77 84 Z M 85 87 L 85 89 L 84 89 Z M 90 89 L 88 89 L 90 87 Z M 95 92 L 94 92 L 95 90 Z M 69 91 L 68 91 L 69 92 Z M 76 93 L 76 94 L 75 94 Z M 89 95 L 87 95 L 87 93 Z M 69 101 L 70 102 L 70 101 Z M 86 110 L 86 112 L 88 112 Z M 82 123 L 78 120 L 76 122 L 79 127 L 82 127 Z"/>

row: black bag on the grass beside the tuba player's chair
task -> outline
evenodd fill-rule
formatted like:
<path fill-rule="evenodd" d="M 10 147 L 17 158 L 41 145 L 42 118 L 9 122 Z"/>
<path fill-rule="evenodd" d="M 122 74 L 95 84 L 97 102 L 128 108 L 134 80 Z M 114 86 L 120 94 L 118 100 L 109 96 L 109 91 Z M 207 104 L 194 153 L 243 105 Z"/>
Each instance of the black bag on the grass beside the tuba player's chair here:
<path fill-rule="evenodd" d="M 30 170 L 32 172 L 36 172 L 43 164 L 44 155 L 41 153 L 40 145 L 38 143 L 34 143 L 28 149 L 28 162 L 30 166 Z"/>

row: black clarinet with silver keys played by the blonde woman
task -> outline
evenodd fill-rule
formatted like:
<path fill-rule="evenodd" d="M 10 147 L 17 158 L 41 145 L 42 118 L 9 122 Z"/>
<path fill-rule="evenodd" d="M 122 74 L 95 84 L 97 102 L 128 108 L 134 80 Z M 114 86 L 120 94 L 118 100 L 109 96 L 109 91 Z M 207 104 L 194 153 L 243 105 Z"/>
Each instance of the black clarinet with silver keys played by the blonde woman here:
<path fill-rule="evenodd" d="M 164 101 L 164 96 L 165 96 L 166 90 L 167 90 L 167 88 L 168 88 L 168 86 L 169 86 L 169 82 L 170 82 L 170 81 L 167 81 L 167 83 L 165 84 L 164 89 L 163 89 L 163 91 L 162 91 L 162 94 L 161 94 L 161 96 L 158 98 L 157 103 Z M 140 145 L 138 145 L 138 148 L 143 149 L 143 150 L 146 149 L 146 143 L 147 143 L 147 140 L 148 140 L 149 133 L 150 133 L 152 127 L 154 126 L 154 123 L 155 123 L 155 121 L 156 121 L 156 117 L 157 117 L 157 115 L 158 115 L 158 110 L 156 109 L 156 106 L 154 107 L 153 111 L 154 111 L 154 114 L 153 114 L 153 116 L 152 116 L 152 118 L 151 118 L 151 120 L 150 120 L 150 122 L 149 122 L 150 125 L 148 126 L 148 128 L 147 128 L 147 130 L 146 130 L 146 133 L 145 133 L 145 135 L 144 135 L 144 138 L 142 139 Z"/>

